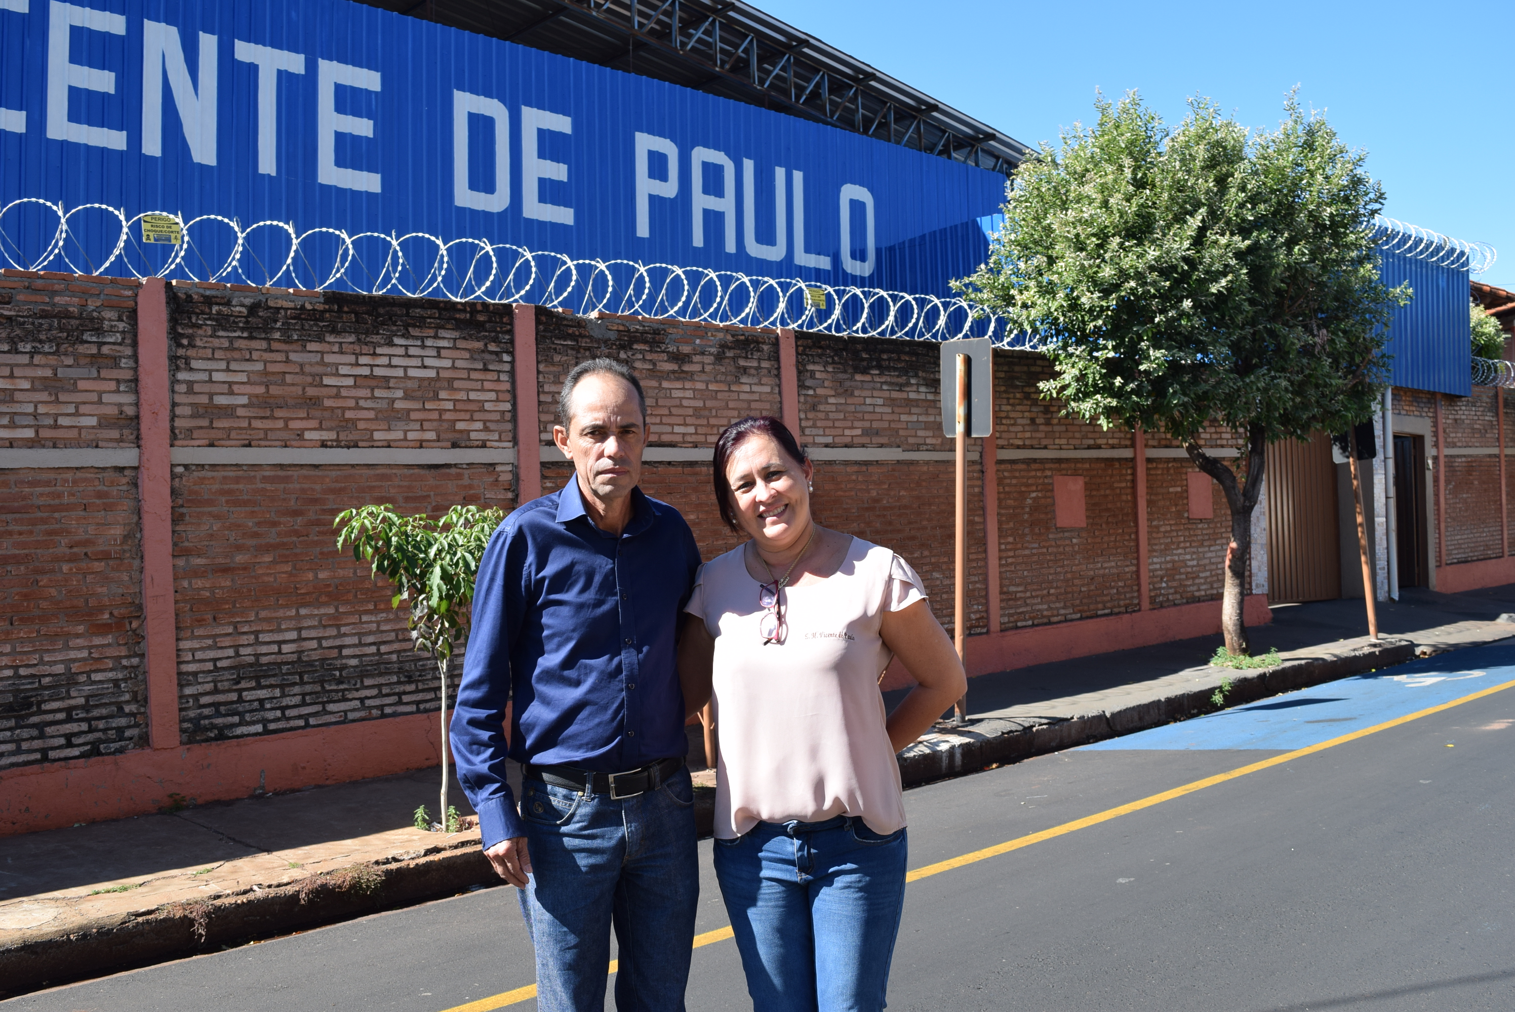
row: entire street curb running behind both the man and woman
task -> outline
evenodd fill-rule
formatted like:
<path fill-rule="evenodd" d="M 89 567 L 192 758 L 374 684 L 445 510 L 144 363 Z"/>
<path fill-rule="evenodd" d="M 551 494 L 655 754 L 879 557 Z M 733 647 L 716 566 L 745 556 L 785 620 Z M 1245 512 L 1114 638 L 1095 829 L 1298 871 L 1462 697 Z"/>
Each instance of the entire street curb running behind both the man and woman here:
<path fill-rule="evenodd" d="M 1439 653 L 1439 650 L 1436 650 Z M 1226 706 L 1332 682 L 1417 656 L 1406 639 L 1383 639 L 1342 653 L 1285 661 L 1276 668 L 1227 673 Z M 1094 741 L 1214 712 L 1218 668 L 1195 668 L 1194 688 L 1071 718 L 976 720 L 971 727 L 927 735 L 900 753 L 904 786 L 977 773 Z M 709 836 L 714 791 L 695 792 L 700 836 Z M 251 888 L 200 901 L 95 918 L 0 947 L 0 998 L 212 953 L 233 945 L 497 886 L 477 841 L 458 841 L 388 862 L 356 864 L 288 886 Z"/>

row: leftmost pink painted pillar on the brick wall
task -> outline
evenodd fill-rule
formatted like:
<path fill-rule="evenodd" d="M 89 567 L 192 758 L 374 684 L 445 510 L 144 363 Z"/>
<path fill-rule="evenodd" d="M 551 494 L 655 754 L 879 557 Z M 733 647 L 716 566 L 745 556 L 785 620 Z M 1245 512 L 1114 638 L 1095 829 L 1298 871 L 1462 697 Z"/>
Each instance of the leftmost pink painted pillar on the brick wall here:
<path fill-rule="evenodd" d="M 147 735 L 179 747 L 179 657 L 174 630 L 173 401 L 168 392 L 168 291 L 148 277 L 136 294 L 136 488 L 142 514 L 142 653 Z"/>

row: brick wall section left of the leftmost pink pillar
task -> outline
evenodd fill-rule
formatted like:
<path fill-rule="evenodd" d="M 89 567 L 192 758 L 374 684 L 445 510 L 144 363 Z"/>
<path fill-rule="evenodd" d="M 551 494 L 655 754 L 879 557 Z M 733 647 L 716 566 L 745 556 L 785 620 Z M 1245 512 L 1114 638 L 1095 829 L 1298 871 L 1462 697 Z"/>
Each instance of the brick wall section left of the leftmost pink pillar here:
<path fill-rule="evenodd" d="M 136 445 L 136 282 L 0 276 L 0 447 Z M 130 468 L 0 470 L 0 768 L 144 741 Z"/>

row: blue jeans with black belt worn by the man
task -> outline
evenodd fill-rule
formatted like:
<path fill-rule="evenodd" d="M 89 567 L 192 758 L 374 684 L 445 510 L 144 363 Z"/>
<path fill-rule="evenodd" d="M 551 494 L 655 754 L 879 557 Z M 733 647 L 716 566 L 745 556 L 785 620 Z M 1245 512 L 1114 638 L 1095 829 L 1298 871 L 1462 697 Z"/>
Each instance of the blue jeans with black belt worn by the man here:
<path fill-rule="evenodd" d="M 632 798 L 521 785 L 532 876 L 521 914 L 536 947 L 536 1007 L 603 1012 L 611 929 L 615 1007 L 683 1009 L 700 862 L 689 771 Z"/>

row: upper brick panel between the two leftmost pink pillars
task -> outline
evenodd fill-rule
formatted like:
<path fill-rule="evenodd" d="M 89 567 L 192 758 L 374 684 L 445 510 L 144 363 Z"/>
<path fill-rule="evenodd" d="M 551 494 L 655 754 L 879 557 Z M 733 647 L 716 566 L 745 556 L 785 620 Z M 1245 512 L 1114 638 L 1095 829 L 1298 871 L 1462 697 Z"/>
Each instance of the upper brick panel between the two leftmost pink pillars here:
<path fill-rule="evenodd" d="M 509 306 L 170 291 L 177 445 L 514 445 Z"/>

